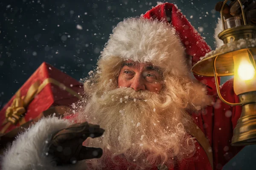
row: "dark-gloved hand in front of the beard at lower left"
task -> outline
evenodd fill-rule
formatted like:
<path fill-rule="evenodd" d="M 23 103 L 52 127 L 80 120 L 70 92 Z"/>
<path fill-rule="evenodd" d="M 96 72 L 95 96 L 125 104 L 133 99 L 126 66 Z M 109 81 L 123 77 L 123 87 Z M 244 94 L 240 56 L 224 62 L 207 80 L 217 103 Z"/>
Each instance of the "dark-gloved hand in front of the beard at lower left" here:
<path fill-rule="evenodd" d="M 53 156 L 58 165 L 74 164 L 83 159 L 100 158 L 101 148 L 84 147 L 82 143 L 88 137 L 101 136 L 104 130 L 98 125 L 87 122 L 73 124 L 53 135 L 49 145 L 49 155 Z"/>

